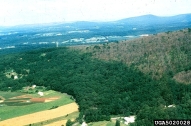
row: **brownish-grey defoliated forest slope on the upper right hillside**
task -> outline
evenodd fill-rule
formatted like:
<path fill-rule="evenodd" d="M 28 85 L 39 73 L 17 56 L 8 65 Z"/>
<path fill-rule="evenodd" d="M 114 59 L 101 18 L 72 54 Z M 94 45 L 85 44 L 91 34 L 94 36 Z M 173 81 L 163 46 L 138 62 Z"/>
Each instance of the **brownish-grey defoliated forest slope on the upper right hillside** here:
<path fill-rule="evenodd" d="M 191 70 L 191 29 L 80 49 L 93 57 L 134 65 L 152 78 Z M 180 80 L 180 79 L 179 79 Z M 186 80 L 186 82 L 189 80 Z"/>

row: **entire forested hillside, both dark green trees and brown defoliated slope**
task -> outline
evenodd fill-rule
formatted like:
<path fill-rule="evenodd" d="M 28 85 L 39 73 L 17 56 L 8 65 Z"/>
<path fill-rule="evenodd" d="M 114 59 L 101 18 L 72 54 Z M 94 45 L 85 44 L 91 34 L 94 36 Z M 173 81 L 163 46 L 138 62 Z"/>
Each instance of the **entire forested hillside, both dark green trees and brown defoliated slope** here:
<path fill-rule="evenodd" d="M 79 104 L 79 119 L 86 122 L 110 120 L 111 115 L 136 115 L 132 126 L 152 126 L 154 119 L 190 119 L 191 85 L 172 78 L 190 70 L 190 34 L 186 29 L 81 50 L 2 55 L 0 89 L 35 84 L 68 93 Z"/>

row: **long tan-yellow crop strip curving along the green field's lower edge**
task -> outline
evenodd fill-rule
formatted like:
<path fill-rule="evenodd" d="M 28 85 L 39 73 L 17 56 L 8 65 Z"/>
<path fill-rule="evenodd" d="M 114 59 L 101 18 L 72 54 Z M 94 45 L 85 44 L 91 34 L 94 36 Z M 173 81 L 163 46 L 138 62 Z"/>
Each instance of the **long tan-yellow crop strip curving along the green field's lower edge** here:
<path fill-rule="evenodd" d="M 64 106 L 60 106 L 55 109 L 45 110 L 41 112 L 36 112 L 33 114 L 28 114 L 24 116 L 19 116 L 12 119 L 7 119 L 5 121 L 0 122 L 0 126 L 23 126 L 29 125 L 32 123 L 42 122 L 45 120 L 57 118 L 60 116 L 64 116 L 73 112 L 78 111 L 78 105 L 76 103 L 67 104 Z"/>

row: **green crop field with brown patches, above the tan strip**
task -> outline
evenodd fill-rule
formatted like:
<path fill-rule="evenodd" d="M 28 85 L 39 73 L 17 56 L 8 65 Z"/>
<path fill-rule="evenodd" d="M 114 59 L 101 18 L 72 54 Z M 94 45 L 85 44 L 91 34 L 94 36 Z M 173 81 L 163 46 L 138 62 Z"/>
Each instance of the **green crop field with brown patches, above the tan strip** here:
<path fill-rule="evenodd" d="M 34 97 L 34 98 L 59 97 L 59 99 L 51 101 L 51 102 L 28 103 L 28 104 L 22 104 L 21 101 L 17 102 L 15 99 L 13 99 L 12 102 L 6 102 L 6 101 L 11 101 L 10 98 L 21 96 L 21 95 L 26 95 L 26 94 L 19 93 L 19 92 L 2 92 L 2 91 L 0 92 L 0 96 L 5 98 L 5 102 L 0 103 L 1 120 L 6 120 L 6 119 L 17 117 L 17 116 L 39 112 L 42 110 L 49 110 L 51 108 L 54 108 L 55 106 L 62 106 L 62 105 L 74 102 L 73 100 L 70 99 L 69 95 L 62 94 L 60 92 L 56 92 L 52 90 L 45 91 L 43 97 L 40 97 L 37 93 L 27 94 L 27 95 L 30 95 L 30 97 Z M 21 100 L 21 98 L 19 98 L 19 100 Z"/>

